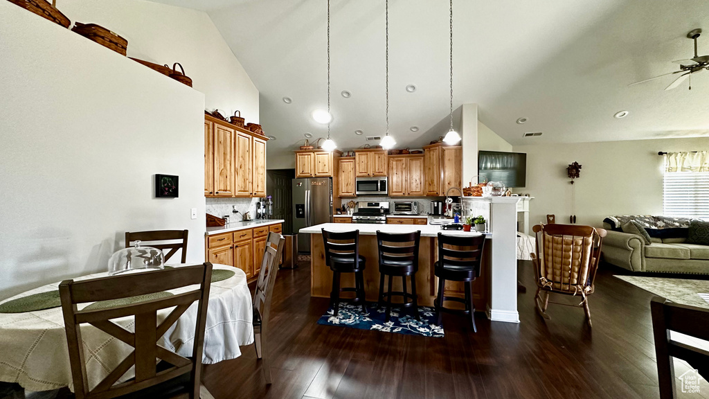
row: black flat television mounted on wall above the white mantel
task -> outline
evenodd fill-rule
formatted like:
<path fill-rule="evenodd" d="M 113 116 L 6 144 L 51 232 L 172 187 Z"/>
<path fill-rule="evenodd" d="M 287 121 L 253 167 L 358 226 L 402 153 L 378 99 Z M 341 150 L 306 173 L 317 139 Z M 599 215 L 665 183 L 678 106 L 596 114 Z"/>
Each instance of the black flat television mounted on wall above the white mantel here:
<path fill-rule="evenodd" d="M 478 182 L 502 182 L 505 187 L 525 187 L 527 154 L 478 151 Z"/>

